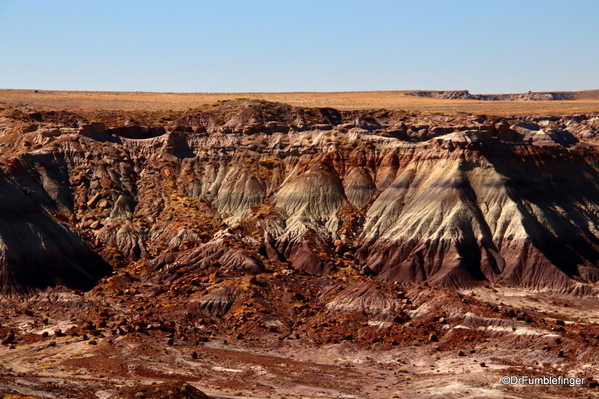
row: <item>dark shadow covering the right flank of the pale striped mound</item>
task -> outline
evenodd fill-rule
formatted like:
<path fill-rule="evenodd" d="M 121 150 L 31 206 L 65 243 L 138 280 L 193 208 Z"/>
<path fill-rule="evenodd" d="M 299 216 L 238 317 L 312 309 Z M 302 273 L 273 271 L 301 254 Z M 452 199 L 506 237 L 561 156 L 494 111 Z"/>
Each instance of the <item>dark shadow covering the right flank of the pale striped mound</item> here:
<path fill-rule="evenodd" d="M 589 221 L 597 225 L 599 219 L 581 206 L 599 204 L 599 174 L 583 154 L 522 145 L 482 152 L 506 176 L 507 193 L 518 204 L 524 229 L 543 256 L 571 277 L 580 275 L 582 265 L 599 265 L 599 238 L 588 227 Z M 545 224 L 528 204 L 542 212 Z"/>

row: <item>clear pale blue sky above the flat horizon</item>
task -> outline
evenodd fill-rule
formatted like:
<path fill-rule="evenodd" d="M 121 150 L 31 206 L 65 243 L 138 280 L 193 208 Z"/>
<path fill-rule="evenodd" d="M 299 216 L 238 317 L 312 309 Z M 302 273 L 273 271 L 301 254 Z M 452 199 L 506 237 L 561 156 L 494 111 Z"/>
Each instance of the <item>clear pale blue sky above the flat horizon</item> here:
<path fill-rule="evenodd" d="M 599 89 L 599 0 L 0 0 L 0 88 Z"/>

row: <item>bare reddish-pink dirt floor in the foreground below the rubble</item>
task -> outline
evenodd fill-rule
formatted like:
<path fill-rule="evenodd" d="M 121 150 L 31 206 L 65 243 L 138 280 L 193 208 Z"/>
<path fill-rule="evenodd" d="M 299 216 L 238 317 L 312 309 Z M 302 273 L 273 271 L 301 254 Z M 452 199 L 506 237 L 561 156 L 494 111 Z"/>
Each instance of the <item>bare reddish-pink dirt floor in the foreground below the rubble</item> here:
<path fill-rule="evenodd" d="M 33 316 L 15 314 L 5 304 L 3 327 L 29 333 L 0 346 L 0 394 L 109 398 L 119 387 L 186 381 L 215 398 L 599 397 L 593 386 L 599 365 L 595 301 L 501 287 L 459 295 L 474 313 L 449 314 L 438 320 L 444 331 L 438 340 L 412 345 L 315 344 L 268 331 L 252 339 L 219 335 L 172 345 L 160 334 L 120 335 L 108 328 L 89 337 L 56 336 L 56 328 L 75 324 L 72 316 L 45 308 Z M 76 301 L 81 308 L 93 303 Z M 481 314 L 480 307 L 498 304 L 511 313 Z M 435 312 L 430 300 L 414 307 L 410 323 L 381 327 L 380 335 L 427 330 L 420 320 L 428 312 Z M 578 377 L 584 384 L 506 385 L 504 376 Z"/>

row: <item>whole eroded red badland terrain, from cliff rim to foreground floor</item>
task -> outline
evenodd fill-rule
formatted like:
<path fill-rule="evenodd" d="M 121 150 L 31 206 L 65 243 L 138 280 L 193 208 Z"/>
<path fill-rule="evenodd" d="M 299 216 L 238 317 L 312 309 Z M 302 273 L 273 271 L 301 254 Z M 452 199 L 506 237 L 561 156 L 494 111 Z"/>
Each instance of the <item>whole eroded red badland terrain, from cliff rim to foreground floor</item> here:
<path fill-rule="evenodd" d="M 599 114 L 1 112 L 0 392 L 593 389 Z"/>

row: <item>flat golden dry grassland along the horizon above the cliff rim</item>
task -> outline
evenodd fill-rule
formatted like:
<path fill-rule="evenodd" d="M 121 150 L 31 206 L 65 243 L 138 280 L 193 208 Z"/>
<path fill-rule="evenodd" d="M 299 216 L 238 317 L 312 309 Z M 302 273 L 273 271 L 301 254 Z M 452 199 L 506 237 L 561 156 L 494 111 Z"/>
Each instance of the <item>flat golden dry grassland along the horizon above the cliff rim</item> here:
<path fill-rule="evenodd" d="M 594 93 L 580 92 L 580 93 Z M 599 112 L 598 96 L 571 101 L 445 100 L 407 95 L 402 91 L 327 93 L 149 93 L 51 90 L 0 90 L 0 107 L 69 110 L 183 110 L 218 100 L 259 98 L 300 107 L 337 109 L 403 109 L 443 114 L 563 115 Z"/>

